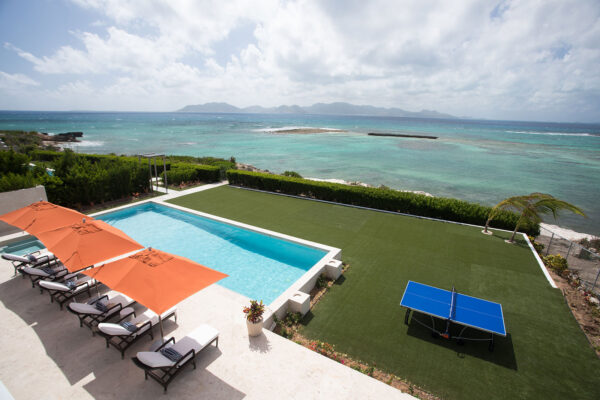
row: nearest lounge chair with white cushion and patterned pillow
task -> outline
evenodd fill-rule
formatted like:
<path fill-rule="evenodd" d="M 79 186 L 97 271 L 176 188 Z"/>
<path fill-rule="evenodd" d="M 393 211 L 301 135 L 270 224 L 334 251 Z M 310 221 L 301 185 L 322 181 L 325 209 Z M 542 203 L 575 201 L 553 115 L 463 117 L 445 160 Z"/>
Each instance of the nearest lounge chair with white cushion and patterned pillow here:
<path fill-rule="evenodd" d="M 209 344 L 216 342 L 219 347 L 219 331 L 212 326 L 203 324 L 194 329 L 192 333 L 175 342 L 171 337 L 155 351 L 141 351 L 132 358 L 135 365 L 144 370 L 144 378 L 160 383 L 167 393 L 169 383 L 190 362 L 196 369 L 196 356 Z M 163 349 L 175 350 L 167 357 Z M 174 361 L 177 360 L 177 361 Z"/>

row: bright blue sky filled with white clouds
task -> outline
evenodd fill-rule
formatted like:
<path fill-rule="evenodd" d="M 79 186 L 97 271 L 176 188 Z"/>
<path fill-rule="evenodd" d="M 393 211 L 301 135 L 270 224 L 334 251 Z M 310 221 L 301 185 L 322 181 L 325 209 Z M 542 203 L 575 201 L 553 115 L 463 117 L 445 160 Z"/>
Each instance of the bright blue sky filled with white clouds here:
<path fill-rule="evenodd" d="M 0 109 L 600 122 L 600 1 L 0 0 Z"/>

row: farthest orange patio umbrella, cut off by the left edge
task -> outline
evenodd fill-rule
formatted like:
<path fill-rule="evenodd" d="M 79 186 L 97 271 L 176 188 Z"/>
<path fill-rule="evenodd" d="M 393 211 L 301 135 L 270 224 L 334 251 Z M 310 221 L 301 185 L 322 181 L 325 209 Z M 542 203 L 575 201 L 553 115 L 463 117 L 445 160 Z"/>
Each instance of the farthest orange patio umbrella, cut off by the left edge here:
<path fill-rule="evenodd" d="M 16 226 L 34 236 L 50 229 L 81 222 L 83 218 L 86 218 L 86 215 L 47 201 L 38 201 L 0 215 L 1 221 Z"/>

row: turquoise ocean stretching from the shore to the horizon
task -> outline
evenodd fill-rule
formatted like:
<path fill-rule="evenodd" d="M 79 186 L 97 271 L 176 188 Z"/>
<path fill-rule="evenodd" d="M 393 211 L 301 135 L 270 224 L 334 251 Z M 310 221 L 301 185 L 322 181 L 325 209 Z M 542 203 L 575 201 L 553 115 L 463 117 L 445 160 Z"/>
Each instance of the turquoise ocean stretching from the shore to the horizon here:
<path fill-rule="evenodd" d="M 294 127 L 343 132 L 283 134 Z M 272 172 L 361 181 L 494 205 L 549 193 L 581 207 L 545 222 L 600 235 L 600 124 L 367 116 L 0 112 L 0 129 L 82 131 L 81 153 L 235 157 Z M 438 136 L 436 140 L 369 132 Z"/>

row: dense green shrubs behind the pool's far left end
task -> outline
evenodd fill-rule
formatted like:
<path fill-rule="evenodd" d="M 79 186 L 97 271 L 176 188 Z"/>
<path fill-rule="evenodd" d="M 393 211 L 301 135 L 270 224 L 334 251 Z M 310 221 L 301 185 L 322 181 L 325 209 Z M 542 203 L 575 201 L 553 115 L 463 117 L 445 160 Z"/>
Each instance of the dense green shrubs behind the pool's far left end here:
<path fill-rule="evenodd" d="M 0 192 L 43 185 L 49 201 L 81 208 L 150 190 L 154 165 L 150 172 L 148 161 L 137 156 L 58 151 L 36 132 L 0 134 L 9 147 L 0 151 Z M 235 159 L 168 156 L 165 164 L 157 163 L 156 172 L 162 174 L 165 167 L 167 179 L 174 184 L 216 182 L 227 169 L 235 168 Z"/>

